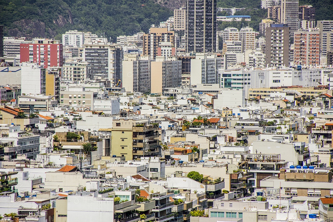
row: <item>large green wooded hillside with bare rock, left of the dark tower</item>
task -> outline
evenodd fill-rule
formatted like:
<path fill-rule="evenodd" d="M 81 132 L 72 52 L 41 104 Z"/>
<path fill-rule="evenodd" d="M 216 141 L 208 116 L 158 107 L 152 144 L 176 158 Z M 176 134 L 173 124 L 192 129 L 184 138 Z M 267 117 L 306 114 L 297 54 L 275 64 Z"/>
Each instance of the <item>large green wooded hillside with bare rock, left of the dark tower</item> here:
<path fill-rule="evenodd" d="M 5 35 L 32 38 L 77 29 L 115 41 L 119 35 L 148 32 L 172 14 L 153 0 L 0 0 Z"/>

